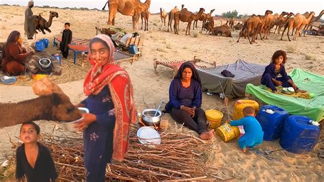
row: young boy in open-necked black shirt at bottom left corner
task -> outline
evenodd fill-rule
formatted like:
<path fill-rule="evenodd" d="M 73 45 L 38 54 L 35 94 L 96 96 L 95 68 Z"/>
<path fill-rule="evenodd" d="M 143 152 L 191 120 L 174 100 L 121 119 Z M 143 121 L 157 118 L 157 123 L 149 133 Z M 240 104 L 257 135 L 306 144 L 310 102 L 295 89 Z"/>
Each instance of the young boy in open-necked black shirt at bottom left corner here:
<path fill-rule="evenodd" d="M 24 143 L 16 151 L 16 179 L 27 181 L 55 181 L 57 172 L 49 148 L 37 142 L 40 127 L 35 122 L 21 125 L 20 138 Z"/>

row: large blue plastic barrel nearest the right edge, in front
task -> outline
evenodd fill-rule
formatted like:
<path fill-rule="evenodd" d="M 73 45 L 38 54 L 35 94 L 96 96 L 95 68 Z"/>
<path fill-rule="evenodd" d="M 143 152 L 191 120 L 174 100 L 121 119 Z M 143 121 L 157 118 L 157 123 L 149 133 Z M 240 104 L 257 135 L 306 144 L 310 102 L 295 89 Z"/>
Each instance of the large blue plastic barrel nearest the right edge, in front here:
<path fill-rule="evenodd" d="M 284 122 L 280 135 L 280 145 L 291 153 L 308 153 L 319 141 L 319 127 L 310 125 L 311 119 L 306 116 L 289 116 Z"/>

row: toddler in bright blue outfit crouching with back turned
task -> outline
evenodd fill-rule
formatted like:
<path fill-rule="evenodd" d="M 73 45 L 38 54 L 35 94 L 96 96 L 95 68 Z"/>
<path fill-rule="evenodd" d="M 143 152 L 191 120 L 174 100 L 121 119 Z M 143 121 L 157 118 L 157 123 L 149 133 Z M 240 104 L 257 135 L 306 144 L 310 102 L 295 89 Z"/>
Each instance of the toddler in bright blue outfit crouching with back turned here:
<path fill-rule="evenodd" d="M 255 118 L 256 114 L 253 107 L 244 107 L 243 114 L 244 118 L 241 118 L 241 120 L 233 120 L 230 122 L 230 125 L 243 125 L 245 134 L 239 139 L 239 146 L 241 151 L 245 153 L 246 147 L 253 148 L 258 144 L 262 144 L 263 131 L 260 123 Z"/>

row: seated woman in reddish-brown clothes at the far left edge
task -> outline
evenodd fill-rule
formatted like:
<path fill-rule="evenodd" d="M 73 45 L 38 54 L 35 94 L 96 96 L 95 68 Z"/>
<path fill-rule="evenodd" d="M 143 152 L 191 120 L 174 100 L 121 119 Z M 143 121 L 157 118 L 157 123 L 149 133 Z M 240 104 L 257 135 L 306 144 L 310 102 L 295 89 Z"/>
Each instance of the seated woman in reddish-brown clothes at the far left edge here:
<path fill-rule="evenodd" d="M 19 75 L 25 71 L 26 58 L 33 55 L 33 51 L 27 53 L 21 45 L 21 33 L 12 31 L 3 46 L 1 68 L 9 75 Z"/>

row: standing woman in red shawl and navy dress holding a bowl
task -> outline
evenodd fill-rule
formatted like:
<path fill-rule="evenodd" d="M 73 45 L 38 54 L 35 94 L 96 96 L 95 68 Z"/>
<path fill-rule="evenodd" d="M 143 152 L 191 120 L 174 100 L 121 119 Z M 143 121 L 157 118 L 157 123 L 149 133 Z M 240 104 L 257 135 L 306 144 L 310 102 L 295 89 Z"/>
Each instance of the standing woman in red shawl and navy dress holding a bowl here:
<path fill-rule="evenodd" d="M 121 161 L 129 145 L 129 127 L 135 122 L 133 88 L 126 71 L 113 60 L 113 43 L 100 34 L 90 42 L 92 68 L 83 83 L 89 109 L 76 127 L 83 131 L 86 181 L 105 181 L 111 158 Z"/>

